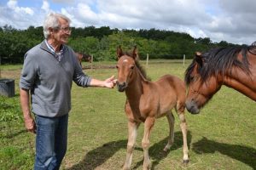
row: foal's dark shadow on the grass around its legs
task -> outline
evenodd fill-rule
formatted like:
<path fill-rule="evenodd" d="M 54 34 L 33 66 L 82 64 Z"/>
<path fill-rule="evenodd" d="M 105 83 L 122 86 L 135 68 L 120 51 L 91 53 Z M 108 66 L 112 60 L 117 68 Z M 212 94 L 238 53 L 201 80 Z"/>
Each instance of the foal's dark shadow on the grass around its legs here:
<path fill-rule="evenodd" d="M 181 148 L 183 146 L 183 136 L 181 132 L 175 133 L 175 141 L 174 144 L 172 145 L 171 150 L 165 152 L 163 151 L 163 149 L 167 144 L 167 140 L 167 138 L 162 139 L 160 142 L 152 145 L 149 148 L 149 156 L 151 157 L 151 159 L 154 159 L 152 169 L 154 169 L 154 167 L 157 164 L 159 164 L 159 162 L 162 159 L 164 159 L 170 151 L 177 150 L 178 148 Z M 188 132 L 188 144 L 190 144 L 190 141 L 191 134 L 190 132 Z M 112 157 L 118 150 L 125 149 L 126 144 L 127 140 L 119 140 L 103 144 L 101 147 L 98 147 L 95 150 L 90 150 L 86 154 L 86 156 L 84 156 L 83 161 L 80 161 L 78 164 L 74 165 L 73 167 L 70 167 L 68 170 L 93 170 L 96 167 L 102 165 L 105 161 L 108 160 L 108 158 Z M 135 150 L 143 151 L 143 149 L 140 147 L 135 147 Z M 125 154 L 123 160 L 121 161 L 125 161 Z M 137 162 L 137 165 L 133 167 L 133 169 L 137 169 L 137 167 L 140 167 L 141 165 L 143 165 L 143 160 Z"/>

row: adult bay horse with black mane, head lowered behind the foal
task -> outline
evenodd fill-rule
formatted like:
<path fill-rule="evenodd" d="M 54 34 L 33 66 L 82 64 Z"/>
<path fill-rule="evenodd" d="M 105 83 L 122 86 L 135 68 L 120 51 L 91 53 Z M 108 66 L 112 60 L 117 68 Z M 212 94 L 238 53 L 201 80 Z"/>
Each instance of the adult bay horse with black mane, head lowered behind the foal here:
<path fill-rule="evenodd" d="M 199 113 L 222 85 L 256 101 L 255 45 L 197 52 L 185 73 L 185 82 L 189 88 L 186 108 L 192 114 Z"/>

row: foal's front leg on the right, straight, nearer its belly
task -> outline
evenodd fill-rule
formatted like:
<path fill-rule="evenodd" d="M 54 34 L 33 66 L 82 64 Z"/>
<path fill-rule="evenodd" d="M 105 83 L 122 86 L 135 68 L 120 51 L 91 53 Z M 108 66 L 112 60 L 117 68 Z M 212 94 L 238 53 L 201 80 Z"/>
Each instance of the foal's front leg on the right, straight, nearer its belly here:
<path fill-rule="evenodd" d="M 154 117 L 148 117 L 144 122 L 144 135 L 143 135 L 143 154 L 144 154 L 144 161 L 143 161 L 143 170 L 148 170 L 151 168 L 151 162 L 148 156 L 148 148 L 149 148 L 149 137 L 152 127 L 154 127 Z"/>

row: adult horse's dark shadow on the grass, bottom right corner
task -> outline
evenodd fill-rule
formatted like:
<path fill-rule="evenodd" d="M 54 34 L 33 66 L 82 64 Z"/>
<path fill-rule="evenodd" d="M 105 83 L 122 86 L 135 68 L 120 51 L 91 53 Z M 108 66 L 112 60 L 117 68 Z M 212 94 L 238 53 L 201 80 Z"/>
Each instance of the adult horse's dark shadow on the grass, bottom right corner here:
<path fill-rule="evenodd" d="M 203 139 L 193 144 L 193 150 L 197 154 L 212 154 L 215 151 L 218 151 L 225 156 L 230 156 L 231 158 L 256 169 L 256 150 L 251 147 L 238 144 L 219 143 L 203 137 Z"/>

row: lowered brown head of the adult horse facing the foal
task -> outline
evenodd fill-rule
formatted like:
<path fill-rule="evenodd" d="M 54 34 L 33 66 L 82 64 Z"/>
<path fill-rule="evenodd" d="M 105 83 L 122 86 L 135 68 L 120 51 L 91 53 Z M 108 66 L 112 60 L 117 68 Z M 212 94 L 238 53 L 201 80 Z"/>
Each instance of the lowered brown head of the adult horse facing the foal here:
<path fill-rule="evenodd" d="M 188 87 L 186 108 L 192 114 L 200 112 L 202 106 L 207 104 L 213 94 L 221 87 L 218 77 L 206 72 L 208 65 L 207 54 L 195 53 L 195 58 L 185 73 L 185 82 Z"/>

